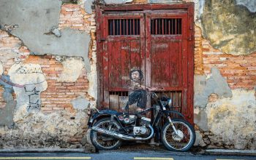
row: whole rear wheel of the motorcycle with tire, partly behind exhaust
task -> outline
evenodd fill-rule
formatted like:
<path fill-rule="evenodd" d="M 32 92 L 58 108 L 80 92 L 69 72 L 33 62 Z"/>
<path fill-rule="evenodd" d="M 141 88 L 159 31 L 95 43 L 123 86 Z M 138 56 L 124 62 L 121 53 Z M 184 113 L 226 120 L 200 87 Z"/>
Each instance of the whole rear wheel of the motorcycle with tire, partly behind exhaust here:
<path fill-rule="evenodd" d="M 99 119 L 94 124 L 94 127 L 101 127 L 101 128 L 107 128 L 110 124 L 110 117 Z M 117 121 L 113 120 L 113 129 L 120 129 L 121 125 L 118 124 Z M 99 132 L 91 130 L 90 133 L 91 137 L 91 143 L 94 145 L 95 148 L 98 150 L 114 150 L 118 149 L 121 145 L 121 140 L 118 140 L 114 137 L 110 137 L 108 135 L 102 135 Z"/>

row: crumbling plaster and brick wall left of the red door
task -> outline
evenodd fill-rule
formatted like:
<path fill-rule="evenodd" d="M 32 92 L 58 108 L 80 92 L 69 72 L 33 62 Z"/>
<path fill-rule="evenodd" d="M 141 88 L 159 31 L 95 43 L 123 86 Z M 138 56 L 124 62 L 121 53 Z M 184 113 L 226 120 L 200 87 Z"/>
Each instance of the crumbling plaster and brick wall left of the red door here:
<path fill-rule="evenodd" d="M 15 84 L 6 98 L 0 81 L 1 148 L 82 147 L 97 100 L 95 15 L 84 3 L 0 1 L 1 75 Z"/>

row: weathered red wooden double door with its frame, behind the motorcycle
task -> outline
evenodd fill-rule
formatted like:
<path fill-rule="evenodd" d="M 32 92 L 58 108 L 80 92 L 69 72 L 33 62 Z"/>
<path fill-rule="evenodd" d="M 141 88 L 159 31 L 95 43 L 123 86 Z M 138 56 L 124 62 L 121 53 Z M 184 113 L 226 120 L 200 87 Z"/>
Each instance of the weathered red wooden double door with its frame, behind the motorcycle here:
<path fill-rule="evenodd" d="M 124 107 L 132 85 L 130 72 L 140 70 L 143 85 L 171 97 L 173 106 L 192 119 L 193 27 L 189 7 L 97 9 L 99 107 Z"/>

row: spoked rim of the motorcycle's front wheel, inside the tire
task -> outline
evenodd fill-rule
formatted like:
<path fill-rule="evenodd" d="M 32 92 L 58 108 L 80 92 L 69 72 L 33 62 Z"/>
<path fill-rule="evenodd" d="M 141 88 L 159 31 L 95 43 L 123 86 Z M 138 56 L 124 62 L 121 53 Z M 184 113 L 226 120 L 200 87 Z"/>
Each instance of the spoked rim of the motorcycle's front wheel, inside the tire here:
<path fill-rule="evenodd" d="M 176 128 L 178 135 L 175 134 L 171 125 L 168 124 L 164 129 L 163 138 L 170 148 L 183 150 L 192 143 L 192 130 L 182 121 L 173 121 L 173 125 Z"/>

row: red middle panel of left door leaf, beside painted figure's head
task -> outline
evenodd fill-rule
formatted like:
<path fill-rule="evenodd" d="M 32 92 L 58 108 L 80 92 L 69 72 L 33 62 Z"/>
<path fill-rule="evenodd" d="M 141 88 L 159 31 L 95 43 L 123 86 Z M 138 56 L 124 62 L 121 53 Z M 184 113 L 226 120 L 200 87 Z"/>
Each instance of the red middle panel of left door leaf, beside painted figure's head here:
<path fill-rule="evenodd" d="M 108 42 L 110 91 L 127 89 L 129 72 L 140 68 L 140 40 L 113 40 Z"/>

